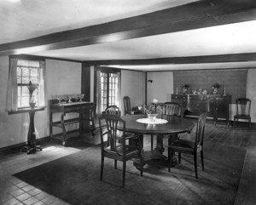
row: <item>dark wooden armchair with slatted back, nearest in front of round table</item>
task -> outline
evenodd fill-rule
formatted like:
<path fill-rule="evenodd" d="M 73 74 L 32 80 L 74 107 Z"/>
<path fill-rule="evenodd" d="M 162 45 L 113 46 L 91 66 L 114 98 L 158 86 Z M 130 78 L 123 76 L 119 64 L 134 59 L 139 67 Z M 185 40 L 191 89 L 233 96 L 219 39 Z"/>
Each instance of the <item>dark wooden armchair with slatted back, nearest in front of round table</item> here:
<path fill-rule="evenodd" d="M 102 128 L 102 123 L 107 124 L 107 130 Z M 117 115 L 102 114 L 102 117 L 99 118 L 99 125 L 102 147 L 101 180 L 103 177 L 105 157 L 113 159 L 115 169 L 117 169 L 117 161 L 123 162 L 122 187 L 125 187 L 126 161 L 139 157 L 141 176 L 143 176 L 143 146 L 141 143 L 141 137 L 135 134 L 126 135 L 125 121 Z M 118 126 L 119 129 L 122 130 L 122 138 L 120 143 L 117 140 Z M 105 136 L 108 136 L 108 138 L 110 139 L 110 145 L 107 145 L 107 143 L 105 143 Z M 137 143 L 135 145 L 127 143 L 127 141 L 131 140 Z"/>

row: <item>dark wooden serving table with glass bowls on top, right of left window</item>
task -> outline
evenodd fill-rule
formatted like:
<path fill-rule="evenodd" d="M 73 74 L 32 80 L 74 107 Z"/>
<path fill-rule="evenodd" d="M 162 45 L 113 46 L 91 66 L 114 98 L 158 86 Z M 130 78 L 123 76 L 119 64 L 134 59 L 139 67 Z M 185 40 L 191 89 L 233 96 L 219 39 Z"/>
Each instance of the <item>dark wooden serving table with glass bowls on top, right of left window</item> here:
<path fill-rule="evenodd" d="M 67 143 L 67 134 L 79 132 L 79 134 L 86 132 L 86 129 L 90 129 L 91 134 L 94 136 L 95 123 L 93 121 L 93 113 L 95 111 L 95 103 L 93 102 L 71 102 L 71 103 L 57 103 L 56 100 L 49 100 L 49 137 L 50 139 L 56 138 L 60 140 L 58 135 L 53 134 L 53 127 L 62 128 L 62 145 Z M 66 119 L 67 113 L 79 113 L 79 117 L 72 119 Z M 55 113 L 61 114 L 59 121 L 53 121 L 53 115 Z M 84 122 L 88 122 L 84 124 Z M 91 122 L 91 125 L 90 125 Z M 78 129 L 66 131 L 66 126 L 72 123 L 80 123 Z"/>

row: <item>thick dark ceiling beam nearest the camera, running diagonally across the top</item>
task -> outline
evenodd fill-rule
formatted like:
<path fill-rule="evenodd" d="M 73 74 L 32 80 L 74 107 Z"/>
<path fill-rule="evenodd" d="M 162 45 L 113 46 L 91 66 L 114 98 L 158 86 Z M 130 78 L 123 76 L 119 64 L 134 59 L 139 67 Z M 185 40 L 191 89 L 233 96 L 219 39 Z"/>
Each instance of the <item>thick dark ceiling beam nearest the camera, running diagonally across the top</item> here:
<path fill-rule="evenodd" d="M 73 48 L 256 20 L 254 0 L 205 0 L 101 25 L 0 45 L 0 55 Z"/>

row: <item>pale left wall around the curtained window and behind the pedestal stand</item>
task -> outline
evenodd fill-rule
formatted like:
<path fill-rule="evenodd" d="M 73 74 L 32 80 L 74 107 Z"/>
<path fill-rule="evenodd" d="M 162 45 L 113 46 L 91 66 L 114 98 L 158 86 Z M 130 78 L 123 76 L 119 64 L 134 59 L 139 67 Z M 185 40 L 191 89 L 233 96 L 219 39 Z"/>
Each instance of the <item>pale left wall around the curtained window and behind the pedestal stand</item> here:
<path fill-rule="evenodd" d="M 70 71 L 72 70 L 72 71 Z M 26 142 L 29 117 L 27 113 L 9 115 L 6 95 L 9 76 L 9 57 L 0 57 L 0 148 Z M 46 60 L 48 99 L 54 94 L 77 94 L 81 91 L 81 64 Z M 49 136 L 49 111 L 35 115 L 37 139 Z"/>

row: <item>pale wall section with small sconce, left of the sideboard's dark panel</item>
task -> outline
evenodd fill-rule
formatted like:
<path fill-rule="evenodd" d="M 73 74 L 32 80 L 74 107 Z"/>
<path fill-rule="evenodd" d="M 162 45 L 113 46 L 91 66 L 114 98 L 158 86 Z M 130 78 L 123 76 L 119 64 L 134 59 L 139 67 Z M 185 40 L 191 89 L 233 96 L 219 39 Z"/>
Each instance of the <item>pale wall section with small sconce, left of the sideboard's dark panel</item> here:
<path fill-rule="evenodd" d="M 151 103 L 154 99 L 158 102 L 170 102 L 173 94 L 173 73 L 172 71 L 148 72 L 147 82 L 147 102 Z"/>

